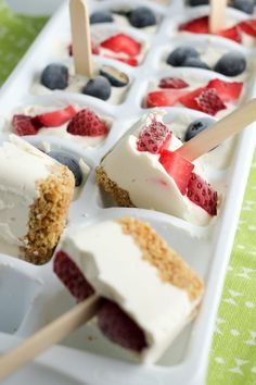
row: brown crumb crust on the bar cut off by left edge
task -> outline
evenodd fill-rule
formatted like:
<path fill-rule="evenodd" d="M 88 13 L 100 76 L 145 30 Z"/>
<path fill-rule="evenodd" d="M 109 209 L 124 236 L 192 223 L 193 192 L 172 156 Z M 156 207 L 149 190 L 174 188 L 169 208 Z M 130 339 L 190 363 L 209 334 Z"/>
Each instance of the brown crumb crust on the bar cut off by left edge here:
<path fill-rule="evenodd" d="M 30 207 L 28 233 L 22 239 L 22 257 L 34 264 L 48 262 L 68 215 L 75 179 L 63 165 L 54 164 L 51 175 L 37 182 L 39 197 Z"/>

